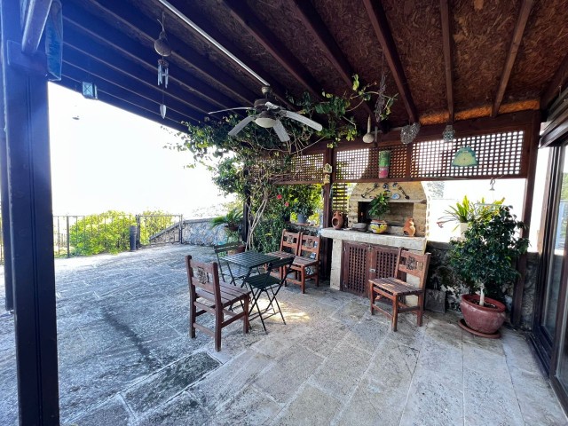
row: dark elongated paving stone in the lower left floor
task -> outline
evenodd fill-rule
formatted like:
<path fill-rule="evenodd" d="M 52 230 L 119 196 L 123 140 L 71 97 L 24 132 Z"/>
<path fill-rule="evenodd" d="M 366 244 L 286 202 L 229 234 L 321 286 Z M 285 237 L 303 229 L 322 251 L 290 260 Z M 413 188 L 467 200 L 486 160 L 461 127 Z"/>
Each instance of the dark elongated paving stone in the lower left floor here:
<path fill-rule="evenodd" d="M 185 390 L 217 367 L 217 360 L 211 359 L 205 352 L 198 352 L 133 385 L 123 392 L 124 400 L 132 411 L 144 414 L 153 406 L 158 406 Z"/>

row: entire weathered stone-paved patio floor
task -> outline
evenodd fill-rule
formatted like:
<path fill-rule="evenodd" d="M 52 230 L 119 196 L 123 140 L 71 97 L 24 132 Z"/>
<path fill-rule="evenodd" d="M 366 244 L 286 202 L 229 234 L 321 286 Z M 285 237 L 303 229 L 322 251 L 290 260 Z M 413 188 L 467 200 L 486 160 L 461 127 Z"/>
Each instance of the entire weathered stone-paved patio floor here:
<path fill-rule="evenodd" d="M 243 335 L 235 323 L 216 352 L 209 335 L 188 337 L 186 254 L 214 256 L 168 246 L 56 260 L 61 424 L 568 424 L 523 335 L 486 340 L 430 312 L 392 333 L 366 299 L 328 286 L 284 288 L 287 325 L 273 317 L 264 334 L 256 319 Z M 16 423 L 2 313 L 0 424 Z"/>

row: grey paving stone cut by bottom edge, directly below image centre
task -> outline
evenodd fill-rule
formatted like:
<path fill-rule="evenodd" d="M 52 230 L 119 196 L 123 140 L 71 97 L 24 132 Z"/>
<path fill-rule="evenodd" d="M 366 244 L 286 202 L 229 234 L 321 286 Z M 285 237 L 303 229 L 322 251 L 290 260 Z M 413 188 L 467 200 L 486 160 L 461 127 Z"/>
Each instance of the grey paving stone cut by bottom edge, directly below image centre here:
<path fill-rule="evenodd" d="M 341 408 L 339 399 L 310 384 L 306 385 L 278 418 L 269 424 L 320 426 L 329 424 Z"/>

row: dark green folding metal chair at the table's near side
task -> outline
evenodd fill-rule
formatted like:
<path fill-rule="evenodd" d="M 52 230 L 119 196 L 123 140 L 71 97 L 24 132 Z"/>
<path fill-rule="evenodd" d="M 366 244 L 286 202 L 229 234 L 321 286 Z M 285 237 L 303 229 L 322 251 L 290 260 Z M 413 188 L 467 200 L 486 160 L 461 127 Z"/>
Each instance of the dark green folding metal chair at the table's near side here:
<path fill-rule="evenodd" d="M 260 317 L 260 320 L 263 323 L 264 332 L 266 332 L 264 319 L 270 318 L 272 315 L 280 313 L 282 321 L 286 324 L 286 319 L 284 319 L 284 315 L 282 314 L 282 310 L 280 309 L 280 304 L 278 303 L 276 296 L 278 295 L 280 288 L 286 282 L 286 277 L 288 276 L 292 262 L 294 262 L 294 257 L 285 257 L 283 259 L 275 260 L 268 264 L 266 272 L 250 276 L 247 280 L 245 280 L 245 284 L 248 285 L 248 288 L 250 288 L 252 293 L 252 304 L 250 306 L 249 313 L 252 314 L 255 306 L 257 312 L 254 316 L 250 316 L 250 319 Z M 284 272 L 282 276 L 280 276 L 280 271 Z M 278 276 L 273 275 L 273 272 L 279 272 Z M 266 308 L 261 309 L 258 304 L 258 299 L 263 295 L 263 293 L 266 297 L 268 297 L 268 305 Z"/>

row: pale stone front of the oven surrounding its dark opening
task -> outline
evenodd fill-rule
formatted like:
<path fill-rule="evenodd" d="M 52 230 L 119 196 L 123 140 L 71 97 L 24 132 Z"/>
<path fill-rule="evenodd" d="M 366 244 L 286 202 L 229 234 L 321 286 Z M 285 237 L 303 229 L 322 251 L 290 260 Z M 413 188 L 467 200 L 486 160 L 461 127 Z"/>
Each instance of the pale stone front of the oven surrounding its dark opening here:
<path fill-rule="evenodd" d="M 422 182 L 403 182 L 400 185 L 393 186 L 394 182 L 387 182 L 391 194 L 398 193 L 398 200 L 390 199 L 389 211 L 383 215 L 383 220 L 389 224 L 387 232 L 402 233 L 402 226 L 408 217 L 414 218 L 414 226 L 416 227 L 415 235 L 424 237 L 428 234 L 426 215 L 427 201 L 426 193 Z M 351 197 L 349 198 L 349 211 L 347 214 L 348 224 L 355 224 L 359 220 L 359 202 L 371 202 L 375 196 L 384 192 L 384 183 L 367 183 L 358 184 L 353 188 Z M 404 192 L 409 197 L 407 200 L 404 194 L 398 191 L 398 187 L 402 186 Z"/>

